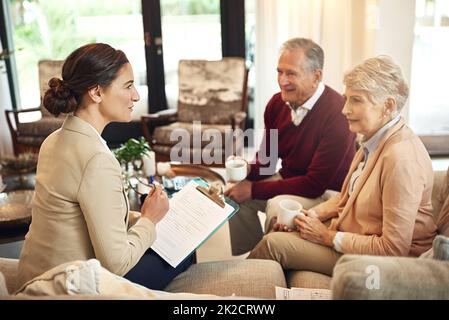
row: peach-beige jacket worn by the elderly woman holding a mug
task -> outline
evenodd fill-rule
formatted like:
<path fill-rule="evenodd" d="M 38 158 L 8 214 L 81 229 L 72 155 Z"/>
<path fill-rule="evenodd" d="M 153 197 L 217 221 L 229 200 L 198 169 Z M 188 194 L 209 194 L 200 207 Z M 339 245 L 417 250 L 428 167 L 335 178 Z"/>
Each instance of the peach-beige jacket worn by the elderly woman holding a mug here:
<path fill-rule="evenodd" d="M 338 217 L 330 229 L 347 232 L 344 253 L 418 256 L 432 246 L 432 162 L 421 140 L 401 119 L 368 159 L 351 196 L 349 180 L 363 159 L 356 153 L 341 194 L 329 200 Z"/>

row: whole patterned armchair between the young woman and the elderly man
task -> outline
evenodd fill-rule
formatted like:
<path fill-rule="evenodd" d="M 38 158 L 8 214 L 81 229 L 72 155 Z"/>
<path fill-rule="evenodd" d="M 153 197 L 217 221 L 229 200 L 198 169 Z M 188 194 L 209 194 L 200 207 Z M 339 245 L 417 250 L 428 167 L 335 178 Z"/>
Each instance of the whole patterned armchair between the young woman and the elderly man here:
<path fill-rule="evenodd" d="M 235 130 L 245 129 L 248 81 L 245 60 L 181 60 L 178 72 L 177 110 L 142 116 L 144 136 L 158 161 L 201 160 L 203 164 L 222 165 L 227 156 L 237 152 Z M 220 160 L 204 161 L 205 154 Z"/>

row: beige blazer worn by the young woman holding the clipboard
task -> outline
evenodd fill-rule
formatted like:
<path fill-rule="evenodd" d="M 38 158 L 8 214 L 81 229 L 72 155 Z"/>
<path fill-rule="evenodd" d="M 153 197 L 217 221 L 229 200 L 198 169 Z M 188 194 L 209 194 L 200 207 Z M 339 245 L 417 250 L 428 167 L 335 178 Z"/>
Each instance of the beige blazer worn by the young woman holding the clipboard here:
<path fill-rule="evenodd" d="M 39 152 L 20 280 L 64 262 L 91 258 L 115 274 L 126 274 L 156 235 L 154 224 L 137 215 L 130 215 L 114 155 L 93 127 L 68 116 Z"/>

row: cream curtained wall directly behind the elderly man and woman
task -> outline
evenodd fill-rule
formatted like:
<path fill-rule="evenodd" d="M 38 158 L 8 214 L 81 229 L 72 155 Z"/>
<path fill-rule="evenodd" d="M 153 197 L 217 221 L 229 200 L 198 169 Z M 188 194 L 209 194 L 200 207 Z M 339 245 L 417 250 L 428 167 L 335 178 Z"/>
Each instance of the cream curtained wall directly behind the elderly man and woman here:
<path fill-rule="evenodd" d="M 280 45 L 291 37 L 311 38 L 325 52 L 324 82 L 343 90 L 344 72 L 362 60 L 386 54 L 401 66 L 408 83 L 414 41 L 415 0 L 257 0 L 254 125 L 279 91 Z M 407 119 L 408 104 L 403 109 Z"/>

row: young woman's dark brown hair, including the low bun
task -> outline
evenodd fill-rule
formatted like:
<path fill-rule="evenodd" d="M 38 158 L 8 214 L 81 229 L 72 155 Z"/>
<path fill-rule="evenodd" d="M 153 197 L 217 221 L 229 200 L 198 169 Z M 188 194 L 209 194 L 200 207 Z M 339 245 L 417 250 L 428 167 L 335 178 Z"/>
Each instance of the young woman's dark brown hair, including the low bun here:
<path fill-rule="evenodd" d="M 104 43 L 76 49 L 62 66 L 62 80 L 51 78 L 48 82 L 50 89 L 43 100 L 45 108 L 55 116 L 75 111 L 88 90 L 97 85 L 108 86 L 128 62 L 123 51 Z"/>

